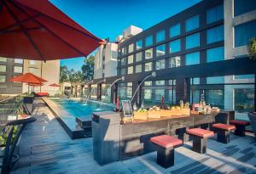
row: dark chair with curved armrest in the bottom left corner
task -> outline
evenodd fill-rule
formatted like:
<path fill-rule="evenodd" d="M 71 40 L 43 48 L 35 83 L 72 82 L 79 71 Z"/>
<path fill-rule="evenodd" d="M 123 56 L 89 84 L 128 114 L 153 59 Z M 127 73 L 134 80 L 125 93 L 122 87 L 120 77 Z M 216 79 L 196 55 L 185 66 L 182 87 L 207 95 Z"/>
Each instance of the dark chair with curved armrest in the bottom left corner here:
<path fill-rule="evenodd" d="M 0 156 L 2 160 L 2 166 L 0 166 L 1 174 L 9 174 L 12 168 L 15 166 L 15 163 L 19 160 L 19 155 L 15 154 L 16 145 L 19 142 L 20 135 L 26 127 L 26 124 L 31 123 L 33 121 L 36 121 L 36 118 L 29 117 L 26 119 L 9 121 L 3 127 L 4 132 L 5 128 L 9 126 L 9 134 L 6 140 L 4 153 L 2 156 Z M 20 129 L 19 132 L 17 132 L 15 138 L 12 140 L 15 126 L 20 126 Z"/>

